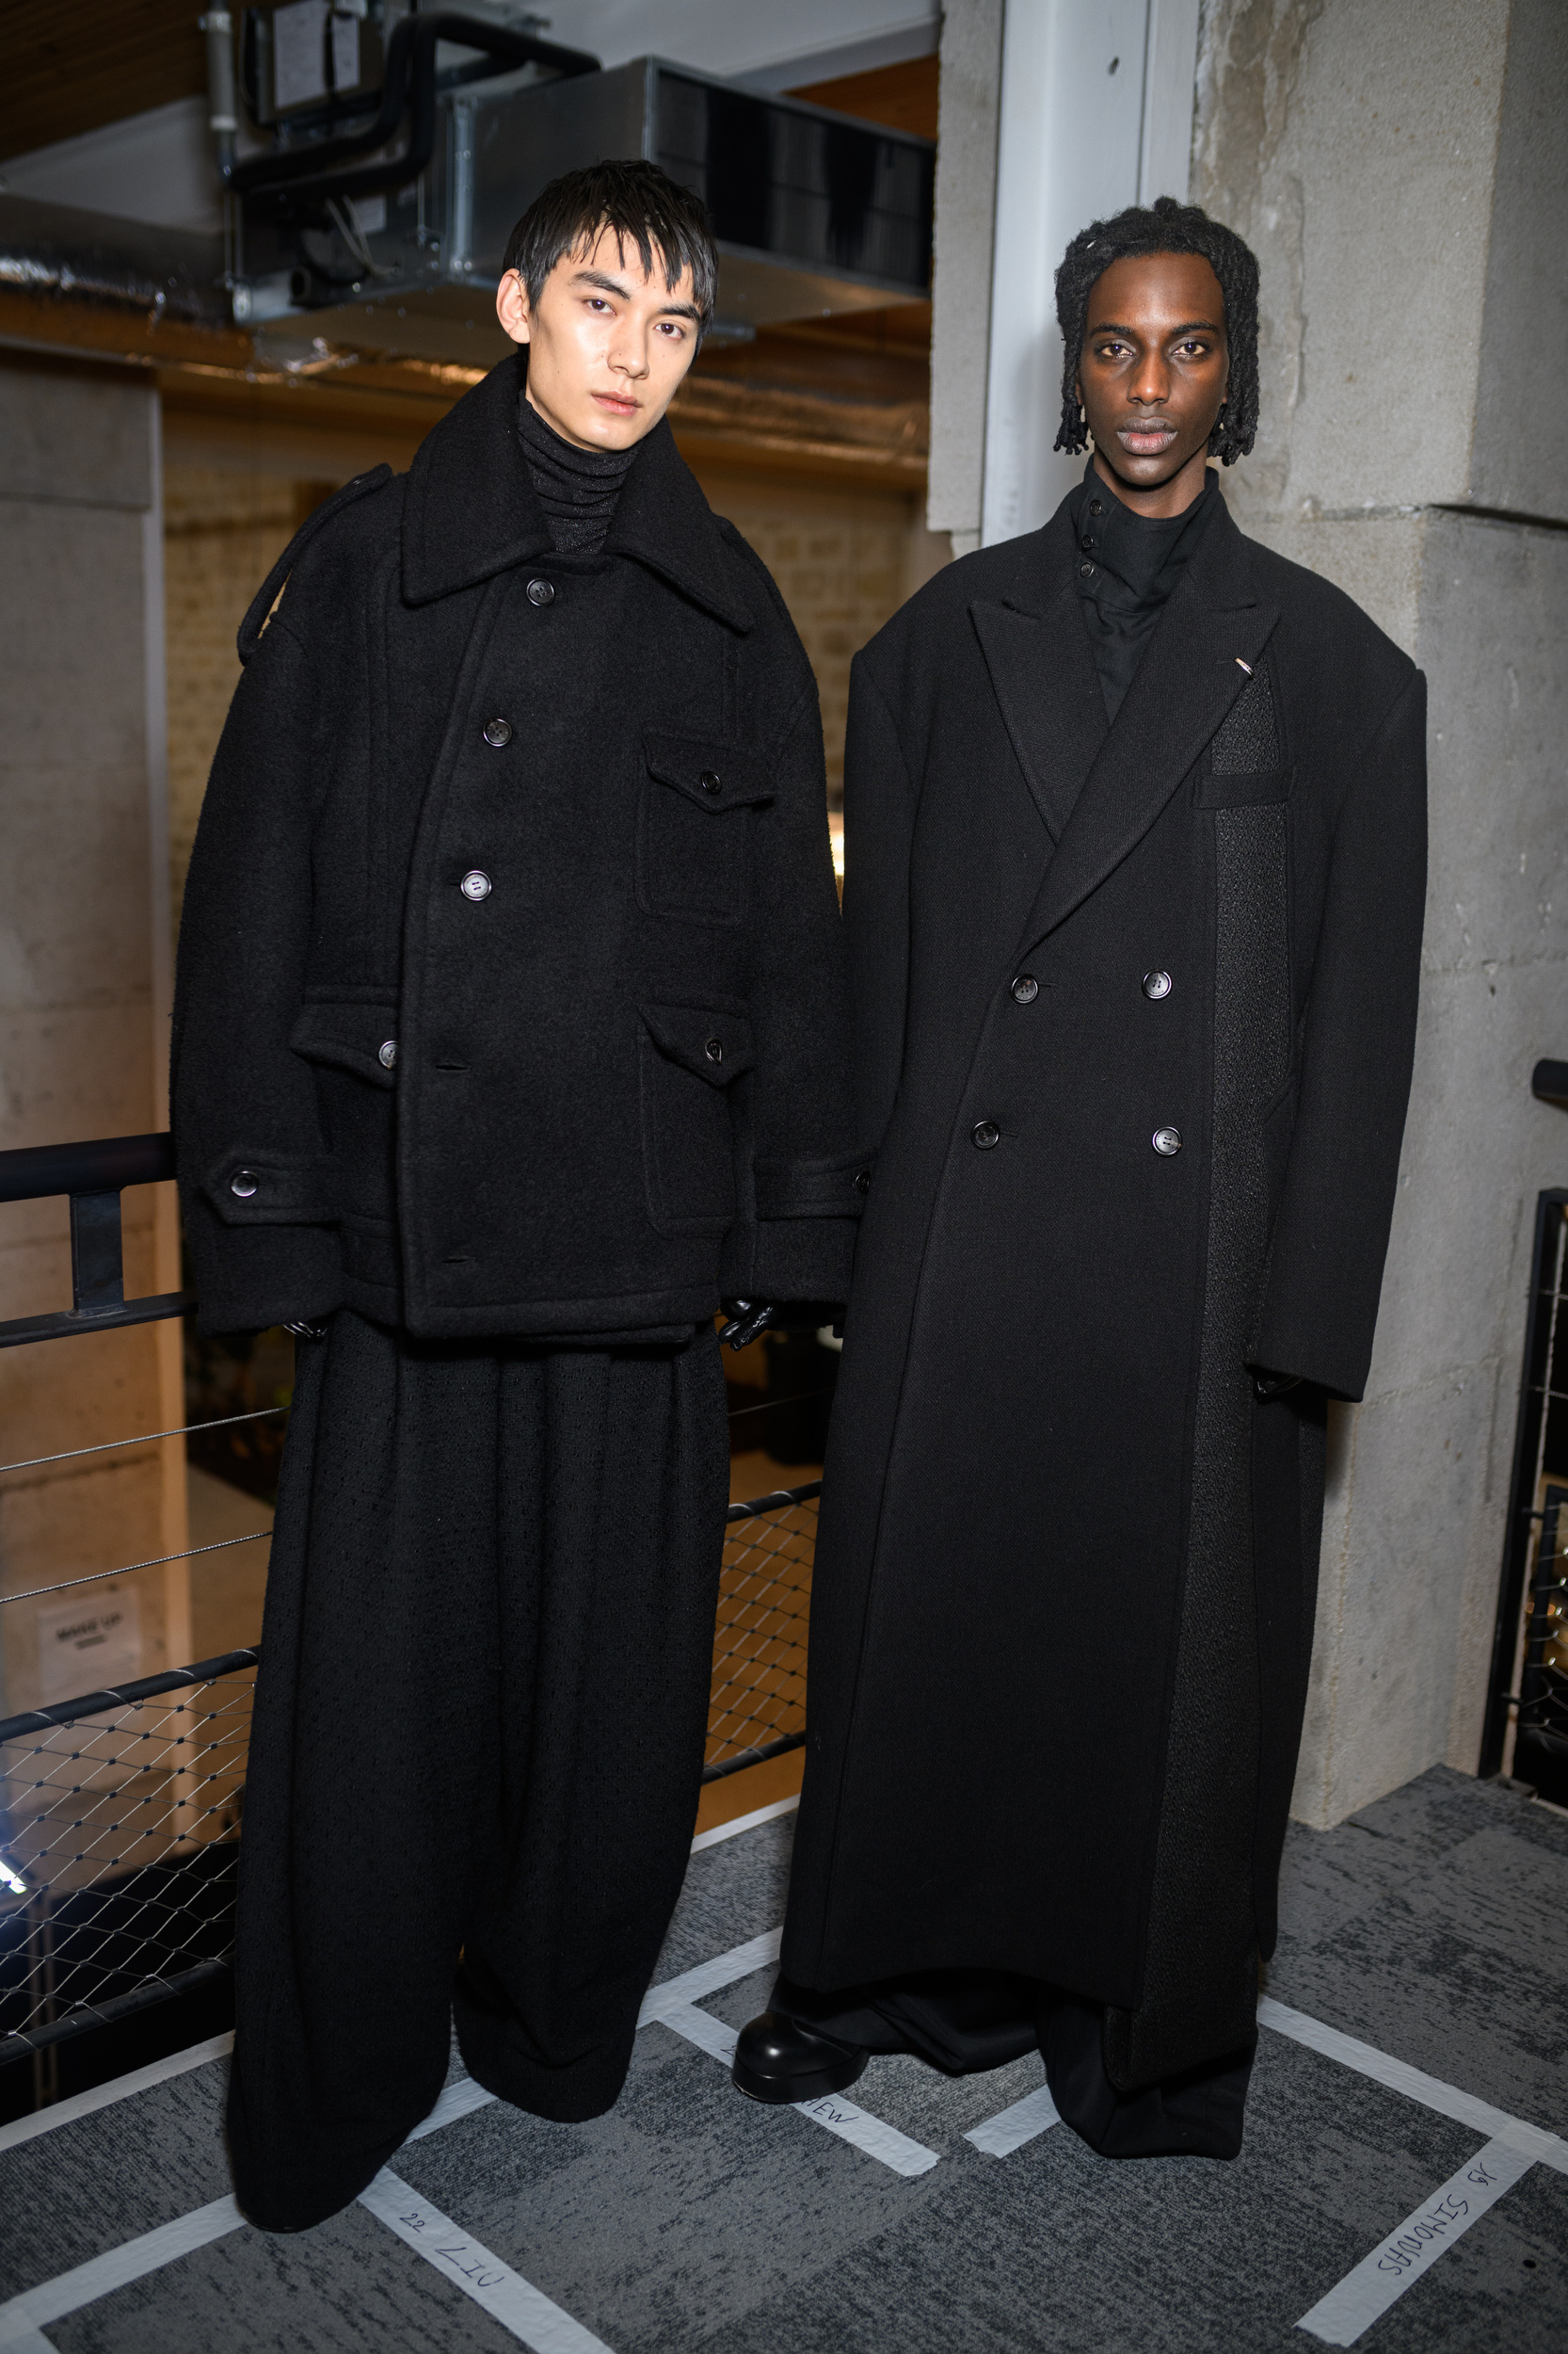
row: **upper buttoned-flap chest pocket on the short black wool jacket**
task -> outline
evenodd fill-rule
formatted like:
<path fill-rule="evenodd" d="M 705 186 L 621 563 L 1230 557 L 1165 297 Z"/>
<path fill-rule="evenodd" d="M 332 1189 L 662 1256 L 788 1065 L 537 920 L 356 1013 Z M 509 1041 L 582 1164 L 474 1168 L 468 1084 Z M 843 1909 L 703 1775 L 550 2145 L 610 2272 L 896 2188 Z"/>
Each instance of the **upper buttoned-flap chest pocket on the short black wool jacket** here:
<path fill-rule="evenodd" d="M 687 923 L 742 923 L 751 906 L 751 831 L 772 800 L 756 751 L 704 737 L 643 737 L 638 906 Z"/>

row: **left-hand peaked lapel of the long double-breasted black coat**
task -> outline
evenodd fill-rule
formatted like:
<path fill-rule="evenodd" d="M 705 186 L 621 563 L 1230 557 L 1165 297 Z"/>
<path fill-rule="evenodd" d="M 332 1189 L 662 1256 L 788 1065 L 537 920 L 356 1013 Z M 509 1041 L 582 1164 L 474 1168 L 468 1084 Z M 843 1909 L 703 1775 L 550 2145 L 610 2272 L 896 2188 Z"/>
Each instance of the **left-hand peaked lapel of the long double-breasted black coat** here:
<path fill-rule="evenodd" d="M 1067 504 L 1024 551 L 1015 591 L 975 598 L 970 621 L 1017 765 L 1059 843 L 1107 737 L 1095 652 L 1078 614 Z"/>

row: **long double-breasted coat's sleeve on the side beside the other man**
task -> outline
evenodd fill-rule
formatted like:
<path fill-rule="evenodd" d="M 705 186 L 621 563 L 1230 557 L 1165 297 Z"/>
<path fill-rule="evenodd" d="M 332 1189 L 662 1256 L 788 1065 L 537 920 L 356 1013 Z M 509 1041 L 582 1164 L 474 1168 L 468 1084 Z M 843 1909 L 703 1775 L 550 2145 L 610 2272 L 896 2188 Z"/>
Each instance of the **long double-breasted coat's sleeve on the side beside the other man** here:
<path fill-rule="evenodd" d="M 855 1132 L 866 1151 L 876 1151 L 904 1069 L 913 786 L 892 711 L 864 654 L 850 669 L 843 767 Z"/>

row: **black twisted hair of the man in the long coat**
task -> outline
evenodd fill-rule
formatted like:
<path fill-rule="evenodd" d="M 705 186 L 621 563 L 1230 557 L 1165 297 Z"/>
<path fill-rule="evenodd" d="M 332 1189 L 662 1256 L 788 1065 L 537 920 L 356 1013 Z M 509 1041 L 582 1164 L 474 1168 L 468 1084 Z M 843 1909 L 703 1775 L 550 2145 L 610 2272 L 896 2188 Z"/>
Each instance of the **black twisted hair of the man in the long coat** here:
<path fill-rule="evenodd" d="M 1062 322 L 1062 431 L 1057 450 L 1088 450 L 1078 405 L 1078 360 L 1088 299 L 1102 271 L 1125 254 L 1203 254 L 1224 294 L 1224 339 L 1231 379 L 1224 407 L 1208 435 L 1208 454 L 1234 466 L 1257 440 L 1257 257 L 1224 221 L 1210 221 L 1198 205 L 1156 195 L 1154 205 L 1128 205 L 1111 221 L 1090 221 L 1067 247 L 1057 271 L 1057 320 Z"/>

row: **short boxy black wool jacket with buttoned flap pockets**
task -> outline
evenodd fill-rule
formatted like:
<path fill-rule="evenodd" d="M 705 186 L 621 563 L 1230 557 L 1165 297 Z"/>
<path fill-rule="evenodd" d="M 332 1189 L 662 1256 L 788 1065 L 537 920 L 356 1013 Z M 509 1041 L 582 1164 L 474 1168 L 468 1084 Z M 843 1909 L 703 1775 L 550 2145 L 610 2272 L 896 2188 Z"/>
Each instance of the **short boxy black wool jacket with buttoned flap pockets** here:
<path fill-rule="evenodd" d="M 805 652 L 669 426 L 603 553 L 553 553 L 520 367 L 341 492 L 240 636 L 174 1012 L 207 1330 L 673 1337 L 848 1288 Z"/>

